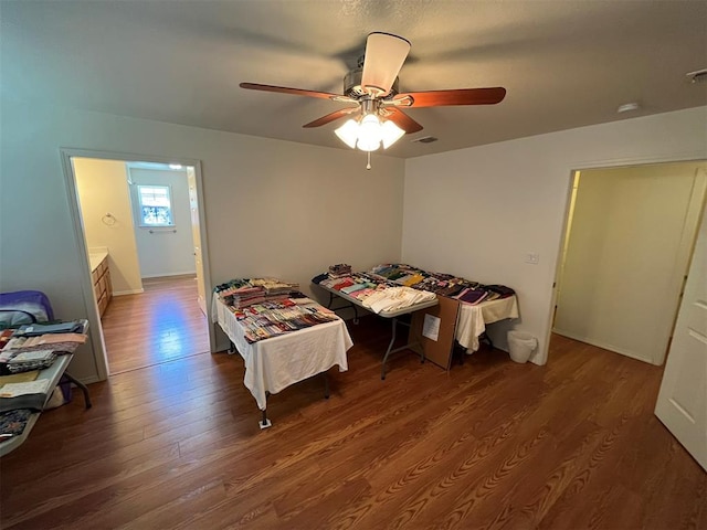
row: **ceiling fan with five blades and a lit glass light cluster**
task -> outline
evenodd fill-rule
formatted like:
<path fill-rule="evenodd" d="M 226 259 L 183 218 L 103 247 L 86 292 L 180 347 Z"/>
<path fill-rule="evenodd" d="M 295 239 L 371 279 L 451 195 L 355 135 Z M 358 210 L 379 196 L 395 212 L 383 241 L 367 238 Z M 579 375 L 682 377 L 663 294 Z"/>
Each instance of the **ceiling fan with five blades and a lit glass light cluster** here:
<path fill-rule="evenodd" d="M 358 67 L 351 70 L 344 78 L 342 95 L 256 83 L 241 83 L 240 86 L 252 91 L 294 94 L 349 104 L 348 107 L 321 116 L 304 127 L 320 127 L 350 116 L 350 119 L 336 129 L 336 134 L 349 147 L 369 151 L 369 156 L 370 151 L 378 149 L 381 144 L 387 149 L 405 132 L 422 130 L 422 125 L 403 113 L 403 108 L 494 105 L 506 96 L 506 89 L 500 86 L 400 93 L 398 73 L 409 52 L 410 42 L 402 36 L 382 32 L 369 34 L 366 53 L 359 59 Z"/>

